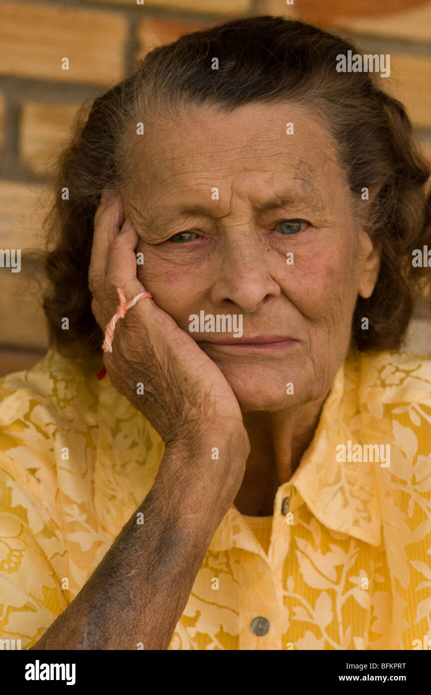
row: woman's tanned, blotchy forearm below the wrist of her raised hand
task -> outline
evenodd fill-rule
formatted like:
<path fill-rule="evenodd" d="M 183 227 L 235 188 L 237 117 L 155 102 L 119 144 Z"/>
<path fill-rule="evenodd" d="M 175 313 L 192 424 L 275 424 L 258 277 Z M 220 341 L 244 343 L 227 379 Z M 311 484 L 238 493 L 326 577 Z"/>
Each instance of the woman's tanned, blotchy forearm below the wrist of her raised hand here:
<path fill-rule="evenodd" d="M 144 649 L 168 648 L 214 532 L 240 484 L 237 456 L 234 461 L 228 454 L 238 452 L 235 444 L 234 437 L 222 461 L 210 461 L 214 438 L 208 445 L 198 443 L 193 453 L 189 445 L 165 451 L 142 505 L 32 649 L 130 650 L 142 648 L 141 643 Z M 144 523 L 138 523 L 142 515 Z"/>

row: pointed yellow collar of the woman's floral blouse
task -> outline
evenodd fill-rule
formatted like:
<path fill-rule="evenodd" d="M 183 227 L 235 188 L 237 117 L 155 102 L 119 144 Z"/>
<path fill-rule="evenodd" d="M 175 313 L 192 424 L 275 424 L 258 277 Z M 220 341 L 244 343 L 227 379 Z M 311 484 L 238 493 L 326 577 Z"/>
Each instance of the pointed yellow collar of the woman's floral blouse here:
<path fill-rule="evenodd" d="M 369 462 L 338 462 L 337 445 L 374 443 L 366 436 L 359 399 L 360 355 L 351 350 L 339 367 L 319 418 L 319 424 L 301 463 L 276 493 L 274 516 L 282 500 L 298 491 L 303 502 L 326 528 L 380 546 L 382 518 L 377 482 Z M 371 436 L 371 434 L 370 434 Z M 260 548 L 246 520 L 232 505 L 217 529 L 210 550 Z"/>

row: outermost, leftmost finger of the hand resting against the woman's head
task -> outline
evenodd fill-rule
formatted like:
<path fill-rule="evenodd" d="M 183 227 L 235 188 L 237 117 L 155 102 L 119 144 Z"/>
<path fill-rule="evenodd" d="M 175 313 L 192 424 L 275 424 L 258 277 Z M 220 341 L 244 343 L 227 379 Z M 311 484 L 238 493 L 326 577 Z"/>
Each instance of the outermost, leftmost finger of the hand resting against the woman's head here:
<path fill-rule="evenodd" d="M 103 287 L 108 268 L 110 246 L 119 234 L 119 227 L 124 220 L 121 197 L 115 192 L 110 197 L 103 196 L 101 204 L 94 215 L 94 233 L 90 268 L 88 271 L 90 290 L 100 291 Z"/>

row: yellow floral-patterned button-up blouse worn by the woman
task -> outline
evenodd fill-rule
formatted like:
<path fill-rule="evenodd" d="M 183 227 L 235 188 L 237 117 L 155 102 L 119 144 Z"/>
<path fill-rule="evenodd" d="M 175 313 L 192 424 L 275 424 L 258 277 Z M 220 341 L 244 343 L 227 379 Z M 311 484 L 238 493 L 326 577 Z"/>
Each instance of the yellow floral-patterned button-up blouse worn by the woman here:
<path fill-rule="evenodd" d="M 163 454 L 99 368 L 49 350 L 0 380 L 0 638 L 22 648 L 78 594 Z M 223 518 L 169 648 L 405 650 L 425 636 L 431 359 L 351 351 L 273 516 Z"/>

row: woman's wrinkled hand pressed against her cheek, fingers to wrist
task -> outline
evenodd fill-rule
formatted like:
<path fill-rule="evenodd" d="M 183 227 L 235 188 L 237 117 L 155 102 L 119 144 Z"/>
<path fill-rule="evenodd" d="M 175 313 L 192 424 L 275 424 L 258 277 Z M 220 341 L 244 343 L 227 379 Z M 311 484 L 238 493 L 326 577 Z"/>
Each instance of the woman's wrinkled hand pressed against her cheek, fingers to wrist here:
<path fill-rule="evenodd" d="M 109 201 L 103 196 L 94 218 L 89 282 L 92 311 L 103 333 L 119 306 L 117 288 L 126 301 L 145 292 L 137 279 L 139 237 L 131 222 L 120 231 L 123 215 L 120 197 Z M 245 464 L 249 443 L 233 390 L 217 365 L 152 298 L 141 299 L 117 322 L 112 353 L 103 354 L 112 384 L 165 444 L 191 441 L 203 432 L 241 434 L 244 450 L 238 453 L 245 455 Z M 137 393 L 140 383 L 142 395 Z"/>

